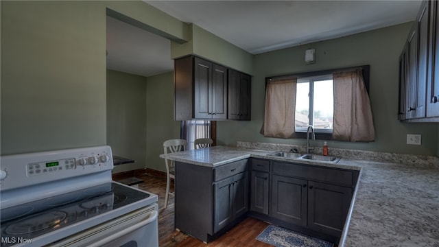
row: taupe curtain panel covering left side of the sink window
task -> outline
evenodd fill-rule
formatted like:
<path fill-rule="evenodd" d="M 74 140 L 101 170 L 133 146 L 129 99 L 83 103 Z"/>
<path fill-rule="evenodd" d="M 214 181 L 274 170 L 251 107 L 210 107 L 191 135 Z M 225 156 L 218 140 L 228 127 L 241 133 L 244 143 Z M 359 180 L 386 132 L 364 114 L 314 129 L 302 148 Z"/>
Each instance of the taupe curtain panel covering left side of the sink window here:
<path fill-rule="evenodd" d="M 264 137 L 292 138 L 295 130 L 297 79 L 268 82 L 265 92 Z"/>

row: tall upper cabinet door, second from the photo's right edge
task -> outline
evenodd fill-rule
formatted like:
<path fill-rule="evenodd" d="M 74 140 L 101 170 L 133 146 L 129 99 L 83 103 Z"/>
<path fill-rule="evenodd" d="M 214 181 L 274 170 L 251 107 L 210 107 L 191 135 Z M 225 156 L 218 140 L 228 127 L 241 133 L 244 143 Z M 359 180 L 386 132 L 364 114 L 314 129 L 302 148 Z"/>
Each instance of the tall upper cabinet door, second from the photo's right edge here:
<path fill-rule="evenodd" d="M 418 25 L 418 80 L 416 84 L 416 110 L 414 117 L 425 117 L 425 93 L 427 91 L 428 46 L 429 46 L 429 3 L 423 1 L 417 17 Z"/>

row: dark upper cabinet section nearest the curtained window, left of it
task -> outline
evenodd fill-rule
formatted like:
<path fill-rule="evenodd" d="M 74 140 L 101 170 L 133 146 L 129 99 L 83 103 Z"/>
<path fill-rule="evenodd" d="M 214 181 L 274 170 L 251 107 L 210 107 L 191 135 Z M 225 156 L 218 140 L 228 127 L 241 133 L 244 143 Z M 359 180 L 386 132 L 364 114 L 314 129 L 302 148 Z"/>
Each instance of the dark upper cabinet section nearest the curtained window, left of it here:
<path fill-rule="evenodd" d="M 245 73 L 228 70 L 228 119 L 250 120 L 251 77 Z"/>

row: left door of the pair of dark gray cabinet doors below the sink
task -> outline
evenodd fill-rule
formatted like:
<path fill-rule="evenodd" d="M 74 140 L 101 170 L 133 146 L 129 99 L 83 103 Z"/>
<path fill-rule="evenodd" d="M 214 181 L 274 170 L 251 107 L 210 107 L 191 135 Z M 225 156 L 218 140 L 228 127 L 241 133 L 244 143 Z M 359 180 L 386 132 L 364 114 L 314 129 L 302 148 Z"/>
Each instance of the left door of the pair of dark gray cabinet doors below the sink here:
<path fill-rule="evenodd" d="M 307 225 L 307 180 L 272 176 L 270 216 L 300 226 Z"/>

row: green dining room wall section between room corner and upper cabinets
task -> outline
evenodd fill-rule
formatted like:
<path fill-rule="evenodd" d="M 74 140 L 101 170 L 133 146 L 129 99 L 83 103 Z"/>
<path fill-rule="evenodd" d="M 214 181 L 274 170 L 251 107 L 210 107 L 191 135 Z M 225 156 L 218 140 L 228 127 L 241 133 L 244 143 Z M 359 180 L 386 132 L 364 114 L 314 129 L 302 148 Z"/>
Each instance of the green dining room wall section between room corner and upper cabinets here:
<path fill-rule="evenodd" d="M 174 72 L 154 75 L 146 82 L 147 168 L 166 172 L 163 141 L 180 138 L 180 121 L 174 121 Z"/>

